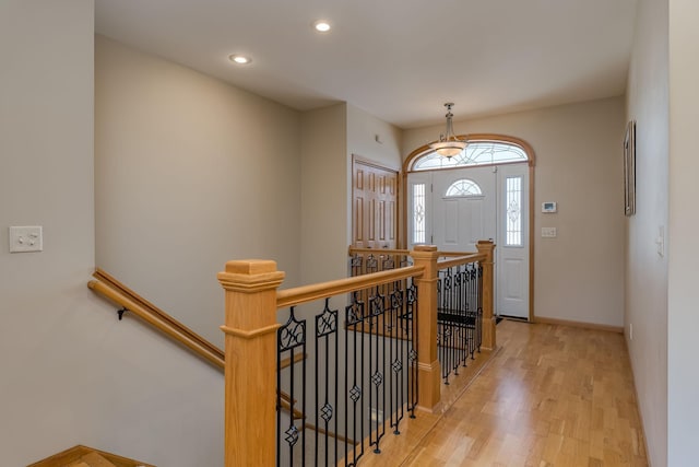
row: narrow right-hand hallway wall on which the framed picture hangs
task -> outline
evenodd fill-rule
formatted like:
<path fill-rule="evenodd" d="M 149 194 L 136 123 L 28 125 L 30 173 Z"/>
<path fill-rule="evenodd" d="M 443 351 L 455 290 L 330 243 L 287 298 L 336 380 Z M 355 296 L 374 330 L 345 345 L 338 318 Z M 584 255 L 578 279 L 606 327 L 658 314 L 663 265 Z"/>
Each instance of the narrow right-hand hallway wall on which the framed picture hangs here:
<path fill-rule="evenodd" d="M 625 334 L 648 454 L 653 466 L 667 455 L 667 2 L 641 0 L 629 70 L 627 119 L 637 120 L 637 212 L 628 218 Z M 633 327 L 631 339 L 631 326 Z"/>

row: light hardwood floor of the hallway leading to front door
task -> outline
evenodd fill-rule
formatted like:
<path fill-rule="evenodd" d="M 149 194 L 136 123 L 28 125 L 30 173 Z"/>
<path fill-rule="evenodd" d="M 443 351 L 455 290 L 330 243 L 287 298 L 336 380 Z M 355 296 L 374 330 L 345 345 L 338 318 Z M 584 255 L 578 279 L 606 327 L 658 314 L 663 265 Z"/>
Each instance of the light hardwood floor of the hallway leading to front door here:
<path fill-rule="evenodd" d="M 359 465 L 648 465 L 621 335 L 508 320 L 497 335 L 495 355 L 416 444 Z"/>

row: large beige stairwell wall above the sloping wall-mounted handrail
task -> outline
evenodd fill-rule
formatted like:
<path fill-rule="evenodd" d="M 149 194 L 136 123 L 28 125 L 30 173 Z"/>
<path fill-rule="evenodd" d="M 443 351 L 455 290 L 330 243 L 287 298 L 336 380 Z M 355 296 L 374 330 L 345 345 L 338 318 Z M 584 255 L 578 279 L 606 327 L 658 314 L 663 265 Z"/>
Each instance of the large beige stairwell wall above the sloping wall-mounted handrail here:
<path fill-rule="evenodd" d="M 97 36 L 97 266 L 223 346 L 225 261 L 299 279 L 300 116 Z"/>

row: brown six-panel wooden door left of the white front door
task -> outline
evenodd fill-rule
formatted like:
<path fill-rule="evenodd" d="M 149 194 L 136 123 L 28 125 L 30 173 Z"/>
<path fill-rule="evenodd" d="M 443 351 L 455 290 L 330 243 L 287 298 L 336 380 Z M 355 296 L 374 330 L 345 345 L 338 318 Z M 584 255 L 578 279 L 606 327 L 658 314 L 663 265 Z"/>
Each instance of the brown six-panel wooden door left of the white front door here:
<path fill-rule="evenodd" d="M 353 157 L 352 245 L 395 248 L 398 172 Z"/>

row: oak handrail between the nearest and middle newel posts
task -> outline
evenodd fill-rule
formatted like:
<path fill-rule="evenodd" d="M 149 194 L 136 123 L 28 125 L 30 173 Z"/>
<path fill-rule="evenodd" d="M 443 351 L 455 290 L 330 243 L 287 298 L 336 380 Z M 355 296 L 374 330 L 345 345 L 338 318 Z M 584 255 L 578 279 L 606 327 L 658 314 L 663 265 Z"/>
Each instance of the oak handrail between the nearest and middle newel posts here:
<path fill-rule="evenodd" d="M 425 270 L 422 266 L 406 266 L 404 268 L 388 271 L 372 272 L 347 279 L 339 279 L 328 282 L 319 282 L 310 285 L 301 285 L 294 289 L 280 290 L 276 293 L 276 307 L 283 308 L 301 303 L 312 302 L 327 296 L 355 292 L 372 285 L 381 285 L 410 277 L 419 277 Z"/>

